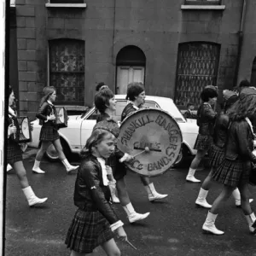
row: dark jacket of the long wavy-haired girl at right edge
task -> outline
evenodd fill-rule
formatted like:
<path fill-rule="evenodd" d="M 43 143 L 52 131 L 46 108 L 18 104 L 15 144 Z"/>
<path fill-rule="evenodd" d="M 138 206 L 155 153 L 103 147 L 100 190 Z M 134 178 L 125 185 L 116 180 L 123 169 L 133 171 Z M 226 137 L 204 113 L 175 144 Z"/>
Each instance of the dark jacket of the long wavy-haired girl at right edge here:
<path fill-rule="evenodd" d="M 228 160 L 252 161 L 256 163 L 253 152 L 253 132 L 245 119 L 230 125 L 229 137 L 225 148 Z"/>

